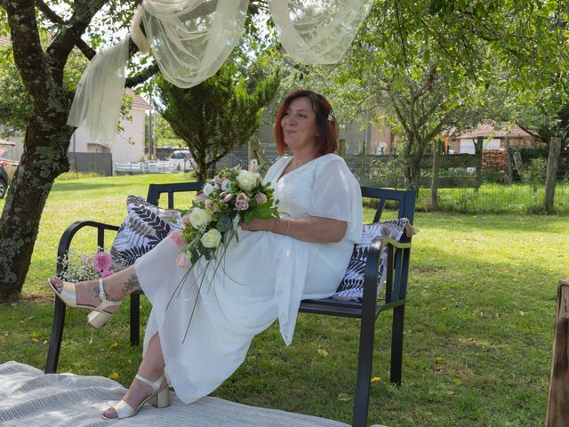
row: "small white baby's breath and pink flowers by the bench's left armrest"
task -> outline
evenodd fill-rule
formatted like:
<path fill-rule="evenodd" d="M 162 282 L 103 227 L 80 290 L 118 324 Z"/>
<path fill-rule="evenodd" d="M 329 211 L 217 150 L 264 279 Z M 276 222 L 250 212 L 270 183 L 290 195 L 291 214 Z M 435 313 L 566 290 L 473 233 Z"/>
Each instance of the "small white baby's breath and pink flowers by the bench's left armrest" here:
<path fill-rule="evenodd" d="M 63 265 L 60 278 L 68 282 L 106 278 L 124 269 L 122 264 L 113 261 L 110 254 L 102 251 L 95 254 L 76 254 L 69 251 L 65 258 L 60 259 L 60 262 Z"/>

